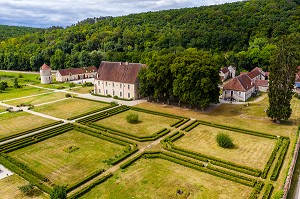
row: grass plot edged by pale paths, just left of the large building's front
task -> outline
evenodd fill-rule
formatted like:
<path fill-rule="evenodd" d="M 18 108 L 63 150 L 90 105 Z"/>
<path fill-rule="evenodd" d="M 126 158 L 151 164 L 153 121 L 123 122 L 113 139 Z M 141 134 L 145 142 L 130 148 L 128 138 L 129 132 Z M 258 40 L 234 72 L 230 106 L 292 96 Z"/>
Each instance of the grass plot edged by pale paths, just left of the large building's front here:
<path fill-rule="evenodd" d="M 73 117 L 105 106 L 108 106 L 108 104 L 78 98 L 70 98 L 68 100 L 38 106 L 33 110 L 54 117 L 67 119 L 69 117 Z"/>

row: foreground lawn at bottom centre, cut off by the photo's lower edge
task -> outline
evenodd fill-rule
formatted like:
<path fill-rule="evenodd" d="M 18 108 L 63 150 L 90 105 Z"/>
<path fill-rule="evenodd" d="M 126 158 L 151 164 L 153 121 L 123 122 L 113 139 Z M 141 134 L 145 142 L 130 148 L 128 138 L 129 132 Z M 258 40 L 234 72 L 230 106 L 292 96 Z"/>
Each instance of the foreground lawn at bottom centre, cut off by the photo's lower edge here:
<path fill-rule="evenodd" d="M 177 194 L 177 190 L 183 194 Z M 141 159 L 82 198 L 248 198 L 251 188 L 162 159 Z"/>

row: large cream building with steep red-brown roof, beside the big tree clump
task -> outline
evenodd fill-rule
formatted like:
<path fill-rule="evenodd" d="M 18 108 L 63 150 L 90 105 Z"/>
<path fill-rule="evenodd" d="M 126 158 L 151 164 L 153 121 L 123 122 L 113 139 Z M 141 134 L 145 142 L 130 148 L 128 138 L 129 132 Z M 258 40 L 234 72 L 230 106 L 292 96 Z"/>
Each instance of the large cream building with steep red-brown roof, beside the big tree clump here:
<path fill-rule="evenodd" d="M 124 99 L 138 99 L 138 73 L 140 63 L 102 61 L 95 78 L 94 93 L 117 96 Z"/>

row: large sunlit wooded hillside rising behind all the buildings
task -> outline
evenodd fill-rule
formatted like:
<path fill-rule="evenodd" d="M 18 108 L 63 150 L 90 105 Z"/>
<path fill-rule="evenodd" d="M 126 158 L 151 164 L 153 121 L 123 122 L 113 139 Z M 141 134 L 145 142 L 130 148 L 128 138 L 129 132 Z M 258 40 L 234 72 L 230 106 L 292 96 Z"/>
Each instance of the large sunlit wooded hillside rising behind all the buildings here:
<path fill-rule="evenodd" d="M 223 5 L 108 17 L 44 30 L 0 44 L 0 69 L 98 66 L 101 60 L 147 63 L 154 54 L 210 51 L 239 71 L 267 67 L 278 39 L 299 34 L 300 7 L 291 0 Z"/>

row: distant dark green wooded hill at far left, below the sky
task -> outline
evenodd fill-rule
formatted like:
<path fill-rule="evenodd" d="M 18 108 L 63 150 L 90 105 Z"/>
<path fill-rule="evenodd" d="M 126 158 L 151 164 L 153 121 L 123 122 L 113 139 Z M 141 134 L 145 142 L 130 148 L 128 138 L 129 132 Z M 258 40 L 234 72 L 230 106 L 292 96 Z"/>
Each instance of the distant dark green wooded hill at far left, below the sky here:
<path fill-rule="evenodd" d="M 27 33 L 34 33 L 40 30 L 40 28 L 0 25 L 0 42 L 8 38 L 20 37 Z"/>

